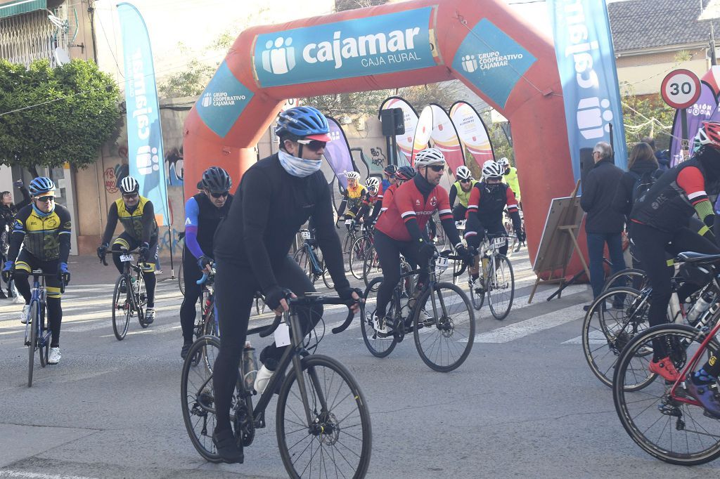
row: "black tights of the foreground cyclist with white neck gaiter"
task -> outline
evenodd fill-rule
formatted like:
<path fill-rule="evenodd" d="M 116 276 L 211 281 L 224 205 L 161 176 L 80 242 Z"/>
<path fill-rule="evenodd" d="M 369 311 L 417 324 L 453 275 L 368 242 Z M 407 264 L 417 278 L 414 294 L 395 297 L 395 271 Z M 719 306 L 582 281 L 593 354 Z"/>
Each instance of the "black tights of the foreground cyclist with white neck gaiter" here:
<path fill-rule="evenodd" d="M 315 291 L 310 280 L 291 257 L 284 257 L 273 268 L 277 283 L 297 296 Z M 220 352 L 212 370 L 212 384 L 215 388 L 217 411 L 216 431 L 230 428 L 230 401 L 235 382 L 238 380 L 238 365 L 248 332 L 248 321 L 255 292 L 259 286 L 248 268 L 240 268 L 222 257 L 217 258 L 215 273 L 215 305 L 220 324 Z M 323 316 L 321 306 L 300 311 L 300 323 L 305 334 Z M 277 347 L 273 342 L 260 353 L 260 360 L 266 368 L 274 370 L 287 346 Z"/>

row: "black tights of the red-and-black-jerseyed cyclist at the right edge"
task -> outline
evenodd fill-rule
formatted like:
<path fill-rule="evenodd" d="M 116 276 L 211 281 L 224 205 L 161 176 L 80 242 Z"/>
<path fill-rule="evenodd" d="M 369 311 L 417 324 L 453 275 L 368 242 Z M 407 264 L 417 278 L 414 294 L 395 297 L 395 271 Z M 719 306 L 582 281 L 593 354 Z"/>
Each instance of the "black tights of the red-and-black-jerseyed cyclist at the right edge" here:
<path fill-rule="evenodd" d="M 631 222 L 630 237 L 636 245 L 633 251 L 642 263 L 652 286 L 648 321 L 650 326 L 664 324 L 667 321 L 667 305 L 670 304 L 672 296 L 672 275 L 675 273 L 675 268 L 667 265 L 666 252 L 670 252 L 673 257 L 683 251 L 717 255 L 720 254 L 720 249 L 709 239 L 685 227 L 677 232 L 667 233 L 645 224 Z M 686 295 L 689 291 L 684 293 Z M 667 356 L 665 345 L 655 345 L 653 342 L 653 350 L 654 360 Z"/>

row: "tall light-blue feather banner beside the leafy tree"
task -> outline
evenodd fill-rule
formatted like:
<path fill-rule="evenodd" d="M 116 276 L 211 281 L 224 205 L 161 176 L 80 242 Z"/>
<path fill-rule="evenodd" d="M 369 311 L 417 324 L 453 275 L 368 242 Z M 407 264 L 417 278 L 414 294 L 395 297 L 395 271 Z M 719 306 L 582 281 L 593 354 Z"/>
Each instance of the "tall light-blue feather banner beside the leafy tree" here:
<path fill-rule="evenodd" d="M 169 224 L 158 89 L 145 20 L 132 4 L 117 4 L 125 54 L 127 160 L 140 195 L 155 206 L 158 224 Z M 162 221 L 161 221 L 162 219 Z"/>

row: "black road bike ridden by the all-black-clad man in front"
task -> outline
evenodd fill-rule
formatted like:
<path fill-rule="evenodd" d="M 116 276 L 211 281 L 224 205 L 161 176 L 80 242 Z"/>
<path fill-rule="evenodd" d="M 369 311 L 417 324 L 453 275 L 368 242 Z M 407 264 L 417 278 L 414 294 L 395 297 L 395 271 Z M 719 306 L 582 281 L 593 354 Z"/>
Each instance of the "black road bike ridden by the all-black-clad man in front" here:
<path fill-rule="evenodd" d="M 309 350 L 314 350 L 314 347 L 306 347 L 298 317 L 299 309 L 349 304 L 340 298 L 314 295 L 288 299 L 288 304 L 289 311 L 283 316 L 276 316 L 270 326 L 248 330 L 248 336 L 259 334 L 266 337 L 282 324 L 282 327 L 289 327 L 292 346 L 285 350 L 276 373 L 255 406 L 253 382 L 257 365 L 249 354 L 240 361 L 230 409 L 230 421 L 238 447 L 248 447 L 253 442 L 256 429 L 266 426 L 265 411 L 279 388 L 275 429 L 288 475 L 292 478 L 310 475 L 362 478 L 367 473 L 372 451 L 367 402 L 356 380 L 340 362 L 332 357 L 310 354 Z M 343 324 L 332 330 L 333 334 L 345 330 L 353 316 L 349 311 Z M 201 354 L 202 350 L 206 351 L 204 354 L 210 360 L 193 364 L 190 358 Z M 215 429 L 212 368 L 219 350 L 219 338 L 203 336 L 197 339 L 190 348 L 181 375 L 184 423 L 193 446 L 210 462 L 221 462 L 212 442 Z M 248 353 L 247 349 L 245 353 Z"/>

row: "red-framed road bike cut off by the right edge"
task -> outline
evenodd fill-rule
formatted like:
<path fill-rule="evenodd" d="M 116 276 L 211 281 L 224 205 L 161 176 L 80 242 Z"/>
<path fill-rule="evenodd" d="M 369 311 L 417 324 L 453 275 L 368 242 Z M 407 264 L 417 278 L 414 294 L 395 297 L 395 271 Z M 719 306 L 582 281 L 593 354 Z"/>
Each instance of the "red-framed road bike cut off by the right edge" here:
<path fill-rule="evenodd" d="M 717 282 L 720 255 L 684 252 L 679 258 L 711 267 Z M 711 327 L 660 324 L 637 334 L 622 350 L 613 375 L 613 403 L 626 432 L 649 455 L 672 464 L 698 465 L 720 457 L 720 420 L 706 414 L 686 388 L 701 361 L 720 354 L 717 301 L 703 316 Z M 652 354 L 647 352 L 658 347 L 680 373 L 677 380 L 665 381 L 649 371 Z M 634 387 L 638 384 L 644 387 Z"/>

